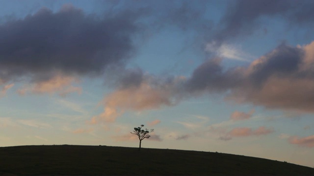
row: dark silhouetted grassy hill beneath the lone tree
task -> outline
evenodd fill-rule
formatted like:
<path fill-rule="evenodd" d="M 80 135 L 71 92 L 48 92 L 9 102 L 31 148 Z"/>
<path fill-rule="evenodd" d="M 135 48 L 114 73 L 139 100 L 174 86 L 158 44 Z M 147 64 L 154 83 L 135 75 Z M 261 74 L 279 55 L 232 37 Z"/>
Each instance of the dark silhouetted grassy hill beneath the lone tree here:
<path fill-rule="evenodd" d="M 314 168 L 211 152 L 108 147 L 0 148 L 0 175 L 309 175 Z"/>

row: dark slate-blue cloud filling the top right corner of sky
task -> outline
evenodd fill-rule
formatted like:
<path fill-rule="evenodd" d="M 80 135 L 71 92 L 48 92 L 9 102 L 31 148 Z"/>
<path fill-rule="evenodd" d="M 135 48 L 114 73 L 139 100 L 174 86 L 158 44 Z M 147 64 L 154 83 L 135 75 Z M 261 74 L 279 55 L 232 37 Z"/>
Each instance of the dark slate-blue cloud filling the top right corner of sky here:
<path fill-rule="evenodd" d="M 278 17 L 288 23 L 313 25 L 312 0 L 237 0 L 230 3 L 219 23 L 216 41 L 250 35 L 261 27 L 261 17 Z"/>

